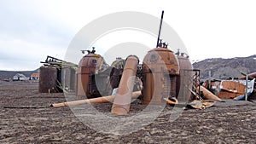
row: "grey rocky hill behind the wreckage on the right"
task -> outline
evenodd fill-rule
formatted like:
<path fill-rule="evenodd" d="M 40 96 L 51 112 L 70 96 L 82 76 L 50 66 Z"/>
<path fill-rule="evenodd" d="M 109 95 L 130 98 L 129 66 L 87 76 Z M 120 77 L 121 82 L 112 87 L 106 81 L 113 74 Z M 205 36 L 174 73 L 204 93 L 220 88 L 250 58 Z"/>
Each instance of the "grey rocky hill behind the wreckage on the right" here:
<path fill-rule="evenodd" d="M 212 58 L 193 63 L 194 69 L 201 70 L 201 79 L 211 77 L 216 79 L 239 78 L 241 72 L 256 72 L 256 55 L 235 57 L 231 59 Z"/>

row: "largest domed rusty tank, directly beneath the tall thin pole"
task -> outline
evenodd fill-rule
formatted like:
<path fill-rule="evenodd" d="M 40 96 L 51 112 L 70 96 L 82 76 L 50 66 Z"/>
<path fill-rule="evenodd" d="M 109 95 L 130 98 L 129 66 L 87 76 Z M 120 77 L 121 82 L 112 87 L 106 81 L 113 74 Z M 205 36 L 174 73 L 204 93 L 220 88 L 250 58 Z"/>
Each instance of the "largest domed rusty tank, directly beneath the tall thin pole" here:
<path fill-rule="evenodd" d="M 177 57 L 167 48 L 148 51 L 143 60 L 143 104 L 165 104 L 164 98 L 176 96 L 179 75 Z"/>

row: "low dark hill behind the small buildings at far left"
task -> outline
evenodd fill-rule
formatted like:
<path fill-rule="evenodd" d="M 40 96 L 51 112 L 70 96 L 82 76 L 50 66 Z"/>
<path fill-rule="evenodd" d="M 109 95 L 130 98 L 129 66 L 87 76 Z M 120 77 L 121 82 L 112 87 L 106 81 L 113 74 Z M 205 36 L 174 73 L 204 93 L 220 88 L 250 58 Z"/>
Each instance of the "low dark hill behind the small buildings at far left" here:
<path fill-rule="evenodd" d="M 21 73 L 24 74 L 26 77 L 30 77 L 32 73 L 36 72 L 39 72 L 39 69 L 36 69 L 34 71 L 0 71 L 0 79 L 13 78 L 17 73 Z"/>

